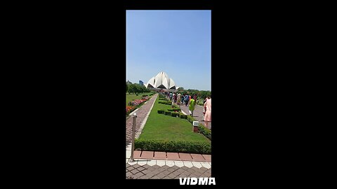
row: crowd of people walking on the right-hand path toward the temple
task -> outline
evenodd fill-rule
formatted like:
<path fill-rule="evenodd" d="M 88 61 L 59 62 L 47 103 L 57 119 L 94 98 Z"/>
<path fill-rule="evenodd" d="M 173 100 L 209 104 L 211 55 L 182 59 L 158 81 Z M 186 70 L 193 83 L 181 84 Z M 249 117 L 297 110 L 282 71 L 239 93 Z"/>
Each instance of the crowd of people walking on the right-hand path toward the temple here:
<path fill-rule="evenodd" d="M 190 116 L 193 116 L 194 106 L 197 104 L 197 95 L 194 94 L 192 97 L 189 94 L 180 94 L 176 92 L 164 92 L 162 93 L 164 96 L 166 96 L 167 99 L 169 99 L 173 104 L 178 104 L 179 106 L 189 106 Z M 203 110 L 203 120 L 205 123 L 205 126 L 209 129 L 211 129 L 211 95 L 207 96 L 206 99 L 204 99 L 204 110 Z"/>

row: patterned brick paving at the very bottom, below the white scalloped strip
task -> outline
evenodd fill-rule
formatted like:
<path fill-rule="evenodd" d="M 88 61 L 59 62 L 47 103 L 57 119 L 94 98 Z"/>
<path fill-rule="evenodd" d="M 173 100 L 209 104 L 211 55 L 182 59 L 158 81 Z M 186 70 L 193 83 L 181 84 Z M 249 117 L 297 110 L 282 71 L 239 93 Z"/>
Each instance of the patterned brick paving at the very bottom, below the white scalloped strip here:
<path fill-rule="evenodd" d="M 211 177 L 211 168 L 205 167 L 169 167 L 164 165 L 136 166 L 126 164 L 126 179 L 179 179 L 180 177 Z"/>

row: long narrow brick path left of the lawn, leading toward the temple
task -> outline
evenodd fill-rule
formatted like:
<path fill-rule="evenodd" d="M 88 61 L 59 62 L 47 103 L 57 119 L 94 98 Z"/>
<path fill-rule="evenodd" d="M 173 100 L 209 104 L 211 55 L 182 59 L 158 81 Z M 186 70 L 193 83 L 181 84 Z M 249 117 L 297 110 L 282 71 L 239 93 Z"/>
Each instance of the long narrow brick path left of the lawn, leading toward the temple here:
<path fill-rule="evenodd" d="M 136 118 L 136 133 L 140 131 L 140 125 L 143 123 L 143 120 L 147 113 L 149 113 L 150 108 L 154 101 L 157 99 L 158 93 L 153 94 L 151 99 L 149 99 L 146 104 L 143 104 L 143 106 L 140 106 L 137 113 Z M 133 116 L 130 116 L 126 120 L 126 144 L 129 144 L 132 140 L 132 122 L 133 122 Z"/>

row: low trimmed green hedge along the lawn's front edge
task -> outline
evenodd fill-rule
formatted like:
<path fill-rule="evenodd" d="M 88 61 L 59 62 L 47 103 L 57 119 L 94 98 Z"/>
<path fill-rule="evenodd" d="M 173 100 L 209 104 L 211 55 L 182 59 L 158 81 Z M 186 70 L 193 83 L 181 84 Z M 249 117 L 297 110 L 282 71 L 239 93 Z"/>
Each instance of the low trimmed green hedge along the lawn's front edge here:
<path fill-rule="evenodd" d="M 135 149 L 138 151 L 211 154 L 211 144 L 209 142 L 196 141 L 155 141 L 136 139 Z"/>

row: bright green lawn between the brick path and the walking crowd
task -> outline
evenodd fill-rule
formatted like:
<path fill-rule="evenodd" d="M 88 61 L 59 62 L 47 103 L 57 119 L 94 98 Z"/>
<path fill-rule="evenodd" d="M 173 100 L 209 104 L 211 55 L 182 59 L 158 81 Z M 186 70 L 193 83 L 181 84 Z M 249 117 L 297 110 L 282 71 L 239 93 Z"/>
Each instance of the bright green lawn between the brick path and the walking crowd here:
<path fill-rule="evenodd" d="M 157 113 L 158 109 L 170 109 L 170 105 L 154 102 L 153 109 L 139 139 L 166 141 L 209 141 L 203 134 L 192 132 L 192 124 L 185 119 Z M 209 141 L 211 143 L 211 141 Z"/>

